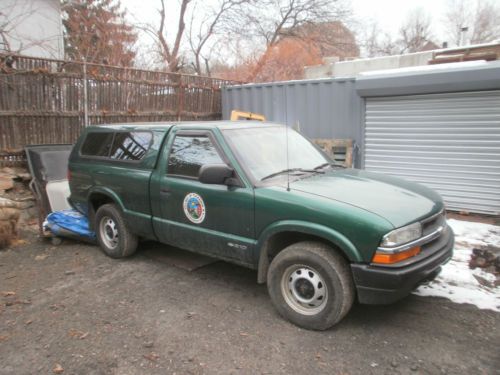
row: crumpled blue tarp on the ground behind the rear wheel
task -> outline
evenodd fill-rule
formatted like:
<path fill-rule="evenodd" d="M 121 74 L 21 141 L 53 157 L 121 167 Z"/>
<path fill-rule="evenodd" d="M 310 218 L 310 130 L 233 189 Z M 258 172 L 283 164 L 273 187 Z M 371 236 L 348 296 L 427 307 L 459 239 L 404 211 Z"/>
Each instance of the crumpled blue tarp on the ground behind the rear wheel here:
<path fill-rule="evenodd" d="M 76 210 L 52 212 L 47 216 L 44 227 L 55 236 L 80 238 L 95 241 L 95 232 L 89 228 L 88 218 Z"/>

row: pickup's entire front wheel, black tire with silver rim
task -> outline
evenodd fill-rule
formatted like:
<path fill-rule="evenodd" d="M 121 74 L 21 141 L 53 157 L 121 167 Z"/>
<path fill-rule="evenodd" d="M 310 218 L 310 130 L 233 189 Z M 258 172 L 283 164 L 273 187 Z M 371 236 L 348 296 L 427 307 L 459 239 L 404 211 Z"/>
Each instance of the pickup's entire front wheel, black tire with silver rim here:
<path fill-rule="evenodd" d="M 267 289 L 281 316 L 319 331 L 342 320 L 355 296 L 347 261 L 328 245 L 312 241 L 290 245 L 273 259 Z"/>

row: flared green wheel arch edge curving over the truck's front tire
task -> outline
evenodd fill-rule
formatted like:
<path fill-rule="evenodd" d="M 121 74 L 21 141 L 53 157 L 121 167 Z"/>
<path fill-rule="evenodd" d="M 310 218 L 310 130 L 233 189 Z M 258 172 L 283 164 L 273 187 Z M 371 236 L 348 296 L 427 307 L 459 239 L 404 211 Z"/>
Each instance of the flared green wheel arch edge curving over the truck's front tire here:
<path fill-rule="evenodd" d="M 258 282 L 264 283 L 269 268 L 268 251 L 269 239 L 280 232 L 295 232 L 313 235 L 322 238 L 337 247 L 351 262 L 361 262 L 362 257 L 352 242 L 342 233 L 324 225 L 300 220 L 283 220 L 269 225 L 259 236 L 258 251 Z"/>

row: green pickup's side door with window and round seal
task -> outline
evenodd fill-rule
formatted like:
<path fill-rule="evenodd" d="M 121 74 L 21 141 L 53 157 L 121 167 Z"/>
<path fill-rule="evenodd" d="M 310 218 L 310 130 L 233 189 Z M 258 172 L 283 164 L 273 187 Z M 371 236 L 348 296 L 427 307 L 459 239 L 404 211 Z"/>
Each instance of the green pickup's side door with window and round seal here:
<path fill-rule="evenodd" d="M 198 181 L 204 164 L 226 163 L 211 130 L 174 130 L 159 175 L 160 241 L 206 255 L 253 265 L 254 194 L 252 186 L 228 187 Z"/>

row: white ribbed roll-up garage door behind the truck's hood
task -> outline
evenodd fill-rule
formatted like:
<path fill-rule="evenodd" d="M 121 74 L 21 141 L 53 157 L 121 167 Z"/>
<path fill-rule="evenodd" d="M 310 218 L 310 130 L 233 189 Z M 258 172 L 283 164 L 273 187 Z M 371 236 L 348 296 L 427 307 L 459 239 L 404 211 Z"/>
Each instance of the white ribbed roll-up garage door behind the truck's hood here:
<path fill-rule="evenodd" d="M 366 99 L 365 168 L 422 183 L 447 208 L 500 214 L 500 91 Z"/>

